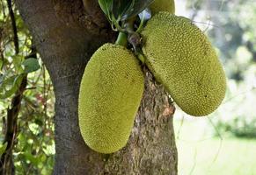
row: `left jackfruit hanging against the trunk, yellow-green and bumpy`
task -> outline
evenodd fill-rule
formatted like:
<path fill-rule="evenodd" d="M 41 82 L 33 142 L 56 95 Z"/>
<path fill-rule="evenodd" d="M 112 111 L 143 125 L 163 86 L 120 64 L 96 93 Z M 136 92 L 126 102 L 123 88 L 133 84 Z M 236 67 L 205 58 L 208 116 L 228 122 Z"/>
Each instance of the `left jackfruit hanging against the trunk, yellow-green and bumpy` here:
<path fill-rule="evenodd" d="M 78 99 L 79 127 L 94 151 L 113 153 L 128 142 L 143 96 L 139 61 L 121 45 L 102 45 L 88 62 Z"/>

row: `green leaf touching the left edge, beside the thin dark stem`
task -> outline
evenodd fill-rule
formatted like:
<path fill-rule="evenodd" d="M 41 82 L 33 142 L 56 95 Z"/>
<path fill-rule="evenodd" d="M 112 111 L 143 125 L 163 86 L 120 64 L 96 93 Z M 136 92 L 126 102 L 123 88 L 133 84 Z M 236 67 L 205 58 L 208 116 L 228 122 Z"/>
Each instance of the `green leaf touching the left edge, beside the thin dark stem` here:
<path fill-rule="evenodd" d="M 24 74 L 11 76 L 0 82 L 0 99 L 6 99 L 15 94 L 21 84 Z"/>

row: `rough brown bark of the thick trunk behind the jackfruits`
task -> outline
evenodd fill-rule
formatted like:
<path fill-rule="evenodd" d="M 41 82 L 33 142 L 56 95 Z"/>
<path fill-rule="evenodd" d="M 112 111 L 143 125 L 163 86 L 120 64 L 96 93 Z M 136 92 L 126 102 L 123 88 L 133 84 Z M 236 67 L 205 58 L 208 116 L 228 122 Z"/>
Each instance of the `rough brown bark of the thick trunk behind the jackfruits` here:
<path fill-rule="evenodd" d="M 146 70 L 146 88 L 126 148 L 91 151 L 80 135 L 77 96 L 84 66 L 114 34 L 96 0 L 16 0 L 55 88 L 54 174 L 177 174 L 174 107 Z"/>

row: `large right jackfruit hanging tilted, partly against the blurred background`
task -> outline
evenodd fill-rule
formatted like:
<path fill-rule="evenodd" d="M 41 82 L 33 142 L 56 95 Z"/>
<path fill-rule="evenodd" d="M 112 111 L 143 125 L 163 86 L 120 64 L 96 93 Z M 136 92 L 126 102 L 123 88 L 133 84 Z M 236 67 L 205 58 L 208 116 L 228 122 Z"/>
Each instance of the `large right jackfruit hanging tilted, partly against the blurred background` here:
<path fill-rule="evenodd" d="M 146 65 L 191 116 L 207 116 L 223 101 L 226 79 L 215 49 L 189 19 L 159 12 L 146 25 Z"/>

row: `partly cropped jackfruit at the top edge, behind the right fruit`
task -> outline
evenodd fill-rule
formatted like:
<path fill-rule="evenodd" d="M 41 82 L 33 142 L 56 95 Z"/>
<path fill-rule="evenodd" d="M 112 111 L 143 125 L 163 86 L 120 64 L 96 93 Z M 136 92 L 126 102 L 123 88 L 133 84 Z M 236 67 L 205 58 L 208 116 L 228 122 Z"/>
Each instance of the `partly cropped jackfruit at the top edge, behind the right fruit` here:
<path fill-rule="evenodd" d="M 150 4 L 150 10 L 152 15 L 155 15 L 159 11 L 167 11 L 169 13 L 175 13 L 174 0 L 155 0 Z"/>

